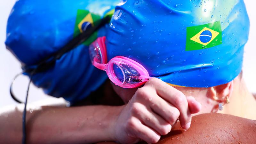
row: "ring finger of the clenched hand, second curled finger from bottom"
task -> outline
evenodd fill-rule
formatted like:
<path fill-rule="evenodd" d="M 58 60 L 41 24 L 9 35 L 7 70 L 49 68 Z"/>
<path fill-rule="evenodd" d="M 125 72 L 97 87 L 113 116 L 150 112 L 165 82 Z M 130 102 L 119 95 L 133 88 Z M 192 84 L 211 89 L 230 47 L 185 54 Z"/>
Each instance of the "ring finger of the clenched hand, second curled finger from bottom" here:
<path fill-rule="evenodd" d="M 144 105 L 139 103 L 138 105 L 141 105 L 141 110 L 137 117 L 144 125 L 150 127 L 161 135 L 166 135 L 171 131 L 172 125 L 170 123 L 150 109 L 146 108 Z"/>

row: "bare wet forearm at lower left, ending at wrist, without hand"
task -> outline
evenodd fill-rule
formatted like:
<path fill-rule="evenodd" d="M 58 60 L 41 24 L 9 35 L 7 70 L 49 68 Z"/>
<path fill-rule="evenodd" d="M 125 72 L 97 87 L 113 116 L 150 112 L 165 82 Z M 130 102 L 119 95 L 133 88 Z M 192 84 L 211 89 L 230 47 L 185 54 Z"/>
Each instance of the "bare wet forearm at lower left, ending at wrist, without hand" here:
<path fill-rule="evenodd" d="M 42 107 L 27 112 L 28 143 L 93 143 L 114 140 L 111 127 L 122 106 Z M 0 113 L 0 140 L 20 143 L 22 111 Z"/>

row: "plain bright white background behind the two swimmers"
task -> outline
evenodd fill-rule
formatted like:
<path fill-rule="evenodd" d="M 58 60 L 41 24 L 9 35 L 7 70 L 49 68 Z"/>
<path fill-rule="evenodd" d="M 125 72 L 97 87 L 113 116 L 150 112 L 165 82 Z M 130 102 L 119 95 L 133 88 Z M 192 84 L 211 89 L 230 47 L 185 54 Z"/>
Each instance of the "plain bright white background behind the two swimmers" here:
<path fill-rule="evenodd" d="M 256 92 L 256 2 L 252 0 L 244 0 L 251 21 L 251 30 L 249 35 L 249 41 L 245 45 L 244 54 L 244 79 L 247 86 L 251 92 Z M 1 0 L 0 1 L 0 108 L 6 105 L 16 104 L 14 100 L 10 97 L 9 87 L 12 78 L 19 72 L 20 63 L 16 58 L 5 49 L 5 33 L 6 33 L 6 23 L 8 15 L 14 5 L 15 0 Z M 15 94 L 21 100 L 24 100 L 25 91 L 27 88 L 28 79 L 25 76 L 21 76 L 17 79 L 14 84 Z M 29 93 L 29 102 L 49 99 L 49 96 L 44 95 L 44 93 L 34 86 L 31 86 Z M 53 98 L 50 98 L 54 100 Z"/>

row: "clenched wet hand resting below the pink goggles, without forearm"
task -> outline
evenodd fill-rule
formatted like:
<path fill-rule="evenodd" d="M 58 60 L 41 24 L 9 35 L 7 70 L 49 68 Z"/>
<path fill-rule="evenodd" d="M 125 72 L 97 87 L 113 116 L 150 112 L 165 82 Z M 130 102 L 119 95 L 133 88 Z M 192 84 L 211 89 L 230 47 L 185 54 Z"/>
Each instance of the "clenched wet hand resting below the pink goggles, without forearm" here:
<path fill-rule="evenodd" d="M 201 104 L 157 78 L 139 88 L 126 104 L 115 123 L 115 138 L 121 143 L 144 140 L 156 143 L 177 123 L 187 130 L 191 114 L 198 113 Z"/>

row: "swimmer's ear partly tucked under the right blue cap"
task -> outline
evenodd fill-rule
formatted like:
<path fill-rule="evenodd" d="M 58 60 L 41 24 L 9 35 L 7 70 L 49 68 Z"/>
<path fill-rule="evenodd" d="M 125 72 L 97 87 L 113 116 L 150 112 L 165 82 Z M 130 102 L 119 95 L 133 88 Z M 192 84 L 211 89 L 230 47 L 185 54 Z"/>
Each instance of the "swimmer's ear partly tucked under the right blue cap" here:
<path fill-rule="evenodd" d="M 233 81 L 227 84 L 221 84 L 214 87 L 211 87 L 207 92 L 208 97 L 211 97 L 213 100 L 218 102 L 225 101 L 226 97 L 230 98 L 233 92 L 234 83 Z"/>

